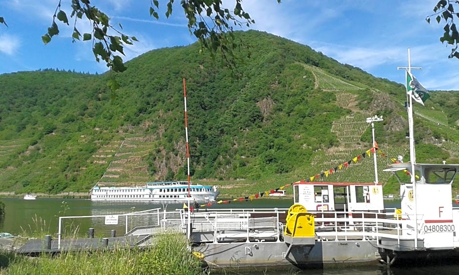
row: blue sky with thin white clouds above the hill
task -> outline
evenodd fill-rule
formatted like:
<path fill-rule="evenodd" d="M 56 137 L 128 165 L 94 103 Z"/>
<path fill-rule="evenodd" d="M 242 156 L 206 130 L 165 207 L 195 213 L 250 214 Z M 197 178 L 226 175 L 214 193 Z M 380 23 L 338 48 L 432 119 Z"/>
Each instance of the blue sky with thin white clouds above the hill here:
<path fill-rule="evenodd" d="M 70 14 L 70 0 L 62 8 Z M 176 0 L 169 19 L 164 16 L 166 0 L 160 0 L 160 20 L 149 16 L 149 0 L 92 0 L 121 23 L 123 32 L 140 41 L 125 47 L 125 60 L 149 50 L 188 45 L 196 39 L 188 32 L 180 1 Z M 231 8 L 234 0 L 223 0 Z M 438 0 L 244 0 L 243 7 L 256 23 L 251 27 L 309 45 L 341 63 L 370 74 L 404 82 L 407 48 L 411 65 L 422 67 L 413 74 L 430 90 L 459 90 L 459 59 L 448 59 L 451 46 L 441 44 L 444 24 L 425 21 Z M 70 27 L 60 24 L 58 37 L 43 45 L 41 36 L 51 25 L 59 0 L 0 0 L 0 74 L 44 68 L 102 73 L 104 63 L 92 54 L 90 41 L 72 43 Z M 73 22 L 70 19 L 70 22 Z M 81 20 L 81 33 L 90 25 Z"/>

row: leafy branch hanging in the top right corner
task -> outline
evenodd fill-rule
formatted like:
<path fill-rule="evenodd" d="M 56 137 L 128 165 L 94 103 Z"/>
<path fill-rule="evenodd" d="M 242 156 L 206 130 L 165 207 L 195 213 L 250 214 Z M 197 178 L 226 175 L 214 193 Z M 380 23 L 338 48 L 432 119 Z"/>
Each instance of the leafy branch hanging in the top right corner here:
<path fill-rule="evenodd" d="M 445 20 L 446 24 L 443 28 L 445 31 L 443 36 L 440 37 L 441 43 L 446 42 L 449 45 L 452 45 L 451 54 L 449 58 L 459 59 L 458 43 L 459 43 L 459 32 L 454 23 L 454 16 L 459 18 L 459 13 L 454 11 L 454 4 L 459 4 L 459 0 L 440 0 L 437 5 L 434 7 L 434 14 L 426 17 L 428 23 L 430 23 L 431 18 L 435 17 L 437 23 L 440 23 L 441 19 Z"/>

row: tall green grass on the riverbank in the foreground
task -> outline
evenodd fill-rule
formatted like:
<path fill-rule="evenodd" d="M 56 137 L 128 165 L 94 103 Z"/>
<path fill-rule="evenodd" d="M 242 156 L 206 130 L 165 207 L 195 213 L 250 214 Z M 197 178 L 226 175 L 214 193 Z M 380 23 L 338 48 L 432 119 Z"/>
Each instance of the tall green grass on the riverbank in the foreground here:
<path fill-rule="evenodd" d="M 66 252 L 30 258 L 0 252 L 0 274 L 203 274 L 200 260 L 188 251 L 186 236 L 158 235 L 152 246 Z"/>

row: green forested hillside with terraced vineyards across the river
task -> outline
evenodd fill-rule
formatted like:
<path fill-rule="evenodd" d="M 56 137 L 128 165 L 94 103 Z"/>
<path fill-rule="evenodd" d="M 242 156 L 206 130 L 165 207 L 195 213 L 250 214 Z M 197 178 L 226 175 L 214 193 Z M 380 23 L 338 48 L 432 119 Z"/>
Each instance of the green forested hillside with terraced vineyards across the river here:
<path fill-rule="evenodd" d="M 267 33 L 236 35 L 250 45 L 237 72 L 198 44 L 159 49 L 127 63 L 116 94 L 106 74 L 0 75 L 0 190 L 185 179 L 183 78 L 193 180 L 280 186 L 321 174 L 372 147 L 365 118 L 374 115 L 384 117 L 375 123 L 378 168 L 407 160 L 403 85 Z M 431 95 L 415 107 L 417 161 L 459 162 L 459 93 Z M 372 165 L 366 157 L 316 180 L 371 182 Z"/>

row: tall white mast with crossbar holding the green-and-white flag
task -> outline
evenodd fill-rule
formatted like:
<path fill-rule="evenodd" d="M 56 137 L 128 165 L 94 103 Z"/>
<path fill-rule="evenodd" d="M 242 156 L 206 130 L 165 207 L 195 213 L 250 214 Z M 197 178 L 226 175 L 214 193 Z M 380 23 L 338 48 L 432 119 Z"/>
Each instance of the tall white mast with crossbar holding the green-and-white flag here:
<path fill-rule="evenodd" d="M 397 67 L 398 69 L 405 69 L 411 74 L 411 69 L 422 69 L 420 67 L 411 67 L 411 59 L 410 59 L 410 48 L 408 48 L 408 67 Z M 415 177 L 415 163 L 416 163 L 416 152 L 415 152 L 415 135 L 414 135 L 414 127 L 413 127 L 413 97 L 411 93 L 408 93 L 408 86 L 410 83 L 407 82 L 407 73 L 405 72 L 405 85 L 407 89 L 407 102 L 408 102 L 408 126 L 409 126 L 409 135 L 410 135 L 410 162 L 411 162 L 411 183 L 413 184 L 413 197 L 415 200 L 415 249 L 417 249 L 417 188 L 416 188 L 416 177 Z"/>

